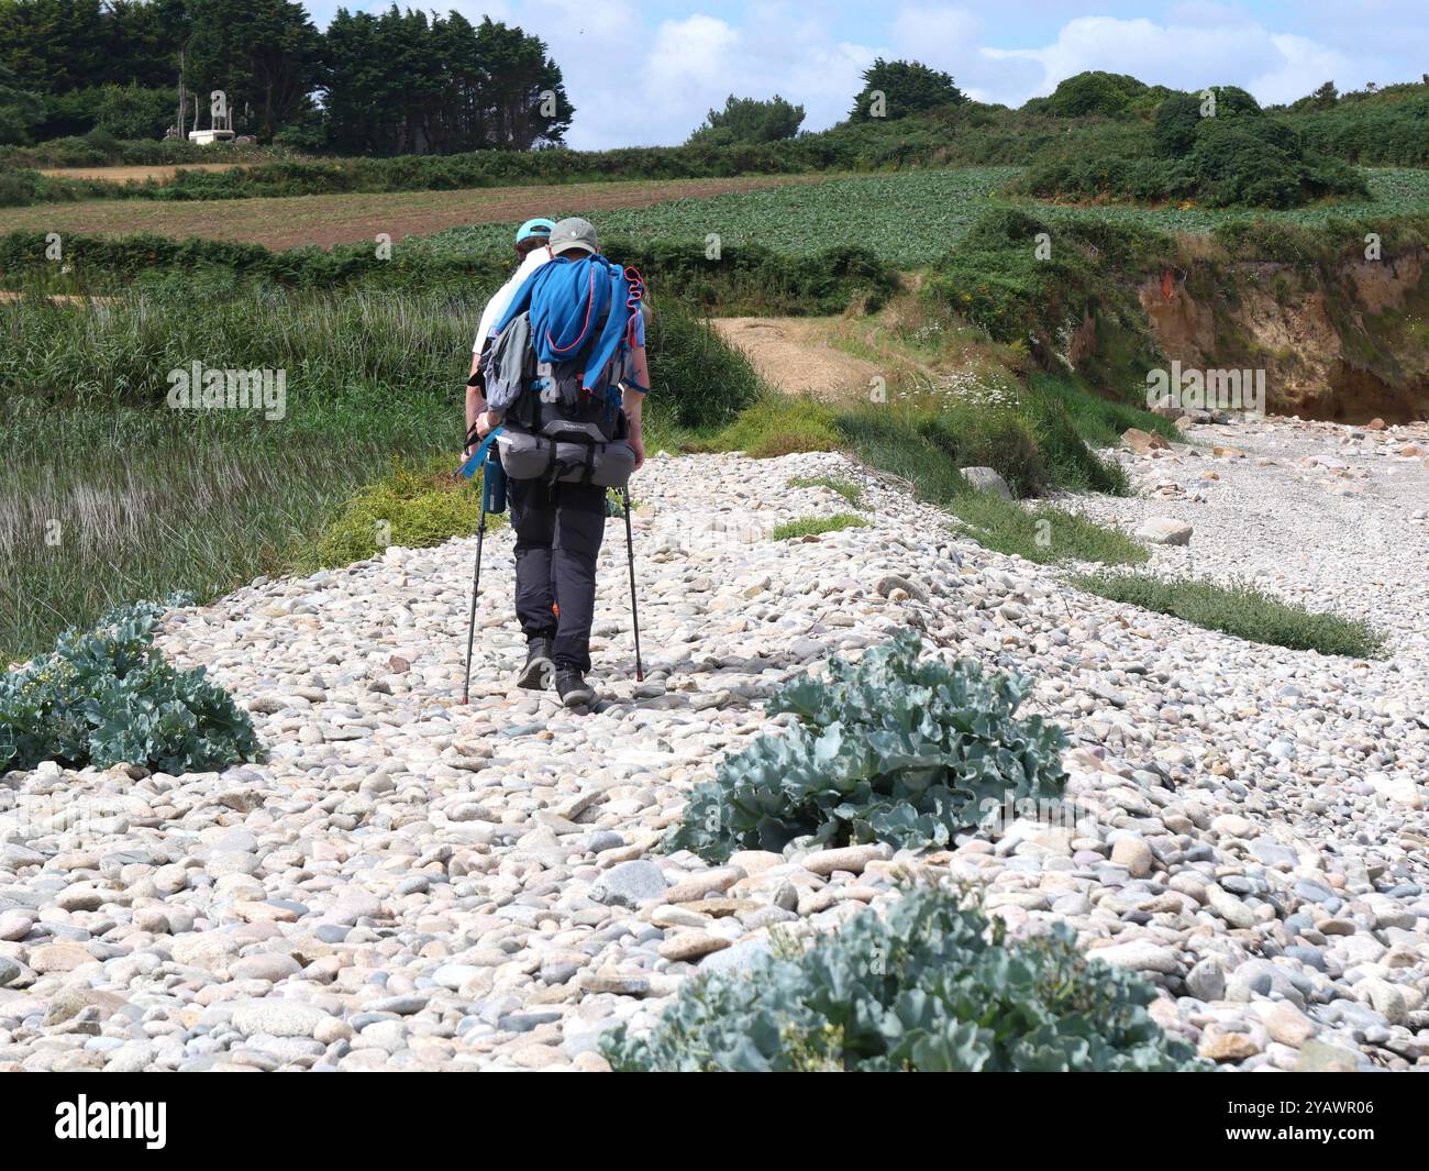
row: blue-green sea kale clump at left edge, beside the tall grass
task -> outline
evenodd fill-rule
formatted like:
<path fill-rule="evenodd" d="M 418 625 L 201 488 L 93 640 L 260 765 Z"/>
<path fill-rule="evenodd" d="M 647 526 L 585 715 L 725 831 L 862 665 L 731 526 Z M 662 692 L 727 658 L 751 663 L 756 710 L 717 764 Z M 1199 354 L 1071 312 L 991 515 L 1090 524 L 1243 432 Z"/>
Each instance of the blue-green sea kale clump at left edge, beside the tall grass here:
<path fill-rule="evenodd" d="M 0 772 L 57 761 L 181 774 L 254 759 L 247 712 L 203 668 L 176 671 L 154 648 L 161 613 L 151 602 L 110 611 L 0 675 Z"/>

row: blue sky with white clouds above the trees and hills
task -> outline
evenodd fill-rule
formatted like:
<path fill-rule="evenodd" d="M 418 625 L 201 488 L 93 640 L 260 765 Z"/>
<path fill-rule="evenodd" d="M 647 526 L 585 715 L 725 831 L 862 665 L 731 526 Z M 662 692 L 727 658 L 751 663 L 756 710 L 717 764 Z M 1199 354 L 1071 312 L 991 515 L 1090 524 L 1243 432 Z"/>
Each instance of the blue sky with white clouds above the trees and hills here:
<path fill-rule="evenodd" d="M 339 4 L 309 0 L 307 7 L 326 26 Z M 1286 102 L 1326 80 L 1359 89 L 1418 80 L 1429 67 L 1425 0 L 457 0 L 412 7 L 473 20 L 490 14 L 546 40 L 576 106 L 567 140 L 584 149 L 682 142 L 730 93 L 780 93 L 805 106 L 805 129 L 819 130 L 847 113 L 859 74 L 877 56 L 922 60 L 952 73 L 972 96 L 1010 106 L 1083 69 L 1180 89 L 1238 84 L 1262 102 Z"/>

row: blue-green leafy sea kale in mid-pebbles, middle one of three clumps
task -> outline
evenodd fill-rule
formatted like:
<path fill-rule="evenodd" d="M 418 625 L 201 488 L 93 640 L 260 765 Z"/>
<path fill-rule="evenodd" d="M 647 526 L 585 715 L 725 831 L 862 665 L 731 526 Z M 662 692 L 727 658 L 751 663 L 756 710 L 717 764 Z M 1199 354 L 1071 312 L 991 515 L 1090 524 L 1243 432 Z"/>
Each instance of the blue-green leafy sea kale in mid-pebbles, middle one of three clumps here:
<path fill-rule="evenodd" d="M 1060 795 L 1066 738 L 1016 715 L 1027 682 L 973 661 L 920 661 L 920 648 L 903 631 L 856 663 L 832 659 L 827 678 L 785 685 L 766 712 L 795 723 L 725 758 L 690 794 L 667 848 L 717 862 L 796 838 L 940 846 L 1009 796 Z"/>

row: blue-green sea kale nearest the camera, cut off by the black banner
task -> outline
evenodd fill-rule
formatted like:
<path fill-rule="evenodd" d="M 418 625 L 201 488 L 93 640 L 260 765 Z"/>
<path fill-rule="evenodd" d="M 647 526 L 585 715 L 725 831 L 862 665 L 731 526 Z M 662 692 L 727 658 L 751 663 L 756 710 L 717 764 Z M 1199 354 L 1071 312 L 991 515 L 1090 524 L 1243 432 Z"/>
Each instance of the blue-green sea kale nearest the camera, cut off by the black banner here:
<path fill-rule="evenodd" d="M 647 1035 L 620 1025 L 600 1051 L 619 1072 L 1203 1068 L 1152 1019 L 1155 998 L 1063 924 L 1012 941 L 965 898 L 923 886 L 802 954 L 687 981 Z"/>

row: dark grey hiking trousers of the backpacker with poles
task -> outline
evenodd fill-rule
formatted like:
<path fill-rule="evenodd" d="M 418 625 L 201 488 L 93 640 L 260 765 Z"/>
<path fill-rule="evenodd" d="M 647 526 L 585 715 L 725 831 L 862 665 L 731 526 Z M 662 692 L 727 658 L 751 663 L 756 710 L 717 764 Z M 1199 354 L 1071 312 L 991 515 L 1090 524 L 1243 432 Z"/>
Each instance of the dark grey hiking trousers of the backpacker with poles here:
<path fill-rule="evenodd" d="M 516 530 L 516 616 L 522 632 L 527 642 L 553 641 L 557 669 L 587 672 L 606 490 L 582 483 L 509 480 L 506 492 Z"/>

